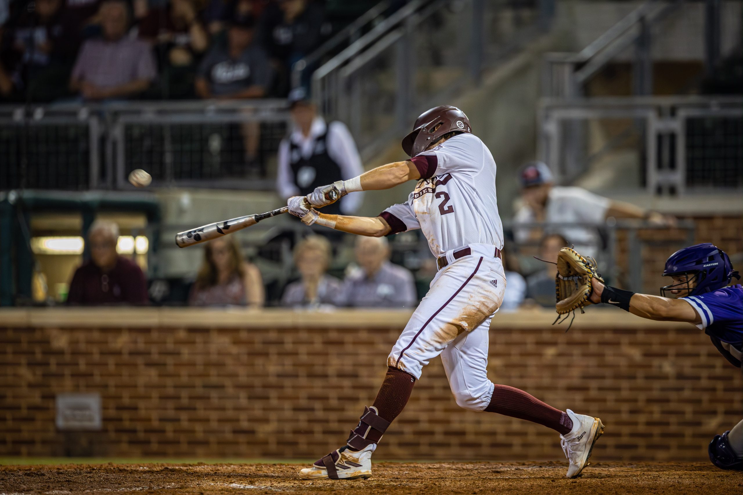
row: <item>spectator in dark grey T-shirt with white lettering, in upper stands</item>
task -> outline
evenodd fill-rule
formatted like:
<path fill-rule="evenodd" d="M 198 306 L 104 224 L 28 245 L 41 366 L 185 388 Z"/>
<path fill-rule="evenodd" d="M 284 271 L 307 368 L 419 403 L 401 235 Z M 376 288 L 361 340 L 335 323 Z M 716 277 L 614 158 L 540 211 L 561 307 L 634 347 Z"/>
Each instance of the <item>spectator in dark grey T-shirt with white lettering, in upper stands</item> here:
<path fill-rule="evenodd" d="M 218 99 L 262 98 L 272 71 L 265 51 L 253 41 L 253 16 L 238 17 L 227 30 L 227 45 L 216 43 L 196 73 L 196 94 Z M 254 165 L 260 145 L 259 122 L 241 125 L 245 162 Z"/>

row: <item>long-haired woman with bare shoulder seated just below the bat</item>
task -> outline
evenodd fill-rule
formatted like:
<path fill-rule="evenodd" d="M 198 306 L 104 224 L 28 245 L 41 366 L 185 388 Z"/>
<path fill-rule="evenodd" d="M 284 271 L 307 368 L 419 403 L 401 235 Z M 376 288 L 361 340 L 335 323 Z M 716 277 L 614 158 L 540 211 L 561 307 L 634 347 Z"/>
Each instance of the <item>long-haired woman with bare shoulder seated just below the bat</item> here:
<path fill-rule="evenodd" d="M 261 272 L 240 255 L 234 237 L 210 240 L 189 294 L 190 306 L 263 306 Z"/>

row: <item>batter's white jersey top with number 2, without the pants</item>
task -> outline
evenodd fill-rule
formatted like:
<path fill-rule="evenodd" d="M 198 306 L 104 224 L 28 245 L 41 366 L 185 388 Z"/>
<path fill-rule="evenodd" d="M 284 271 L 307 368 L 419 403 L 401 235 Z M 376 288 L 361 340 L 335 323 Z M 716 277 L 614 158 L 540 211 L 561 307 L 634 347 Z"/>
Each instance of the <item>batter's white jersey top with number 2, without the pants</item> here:
<path fill-rule="evenodd" d="M 503 248 L 496 163 L 478 137 L 457 134 L 411 161 L 421 180 L 406 203 L 380 214 L 391 234 L 421 229 L 436 258 L 476 243 Z"/>

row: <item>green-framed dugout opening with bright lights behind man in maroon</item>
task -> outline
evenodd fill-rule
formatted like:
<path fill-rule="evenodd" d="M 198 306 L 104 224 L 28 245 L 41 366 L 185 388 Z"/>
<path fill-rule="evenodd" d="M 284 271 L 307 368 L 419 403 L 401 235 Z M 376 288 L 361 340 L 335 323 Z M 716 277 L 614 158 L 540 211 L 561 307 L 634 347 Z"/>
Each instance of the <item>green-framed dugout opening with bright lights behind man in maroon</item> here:
<path fill-rule="evenodd" d="M 150 274 L 157 273 L 160 237 L 160 203 L 153 194 L 117 191 L 39 191 L 0 192 L 0 306 L 45 304 L 39 284 L 44 284 L 42 263 L 62 280 L 70 267 L 87 260 L 85 246 L 88 229 L 97 217 L 120 224 L 123 251 L 131 254 Z M 137 237 L 138 236 L 138 237 Z M 139 249 L 134 243 L 144 237 Z M 39 239 L 65 240 L 42 246 Z M 121 237 L 120 245 L 121 247 Z M 120 249 L 121 251 L 121 249 Z M 53 256 L 54 258 L 44 258 Z M 63 269 L 59 269 L 62 266 Z M 61 282 L 55 282 L 61 283 Z M 34 286 L 36 285 L 36 291 Z M 34 294 L 36 292 L 36 294 Z M 44 292 L 44 291 L 42 291 Z"/>

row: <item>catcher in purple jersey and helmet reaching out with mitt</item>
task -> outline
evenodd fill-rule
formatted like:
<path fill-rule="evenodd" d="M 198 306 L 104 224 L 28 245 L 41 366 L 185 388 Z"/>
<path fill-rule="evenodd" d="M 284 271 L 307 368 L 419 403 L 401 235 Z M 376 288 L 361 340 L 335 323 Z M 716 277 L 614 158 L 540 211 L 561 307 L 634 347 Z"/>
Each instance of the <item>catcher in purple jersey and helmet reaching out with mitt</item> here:
<path fill-rule="evenodd" d="M 729 286 L 733 277 L 740 276 L 730 258 L 713 244 L 695 244 L 673 253 L 663 270 L 663 277 L 670 277 L 672 283 L 661 287 L 661 296 L 607 286 L 596 272 L 595 263 L 570 248 L 560 249 L 557 272 L 559 314 L 604 303 L 650 320 L 687 321 L 710 335 L 730 364 L 741 367 L 743 286 Z M 743 471 L 743 420 L 732 430 L 716 435 L 709 453 L 718 468 Z"/>

